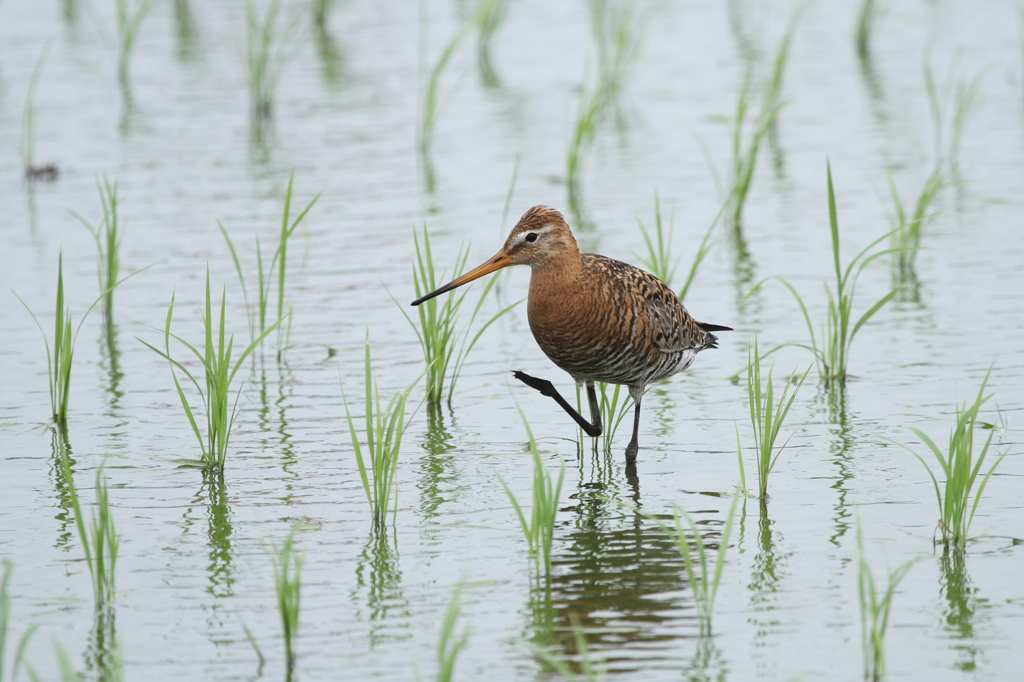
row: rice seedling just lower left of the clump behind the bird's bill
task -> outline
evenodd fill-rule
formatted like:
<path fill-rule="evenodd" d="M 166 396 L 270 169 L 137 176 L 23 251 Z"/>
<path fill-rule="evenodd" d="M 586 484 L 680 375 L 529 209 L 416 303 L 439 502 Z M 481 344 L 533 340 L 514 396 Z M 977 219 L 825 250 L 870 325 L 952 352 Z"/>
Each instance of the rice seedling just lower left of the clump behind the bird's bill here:
<path fill-rule="evenodd" d="M 359 441 L 355 421 L 345 400 L 345 418 L 348 420 L 348 431 L 352 437 L 352 449 L 355 451 L 355 463 L 359 468 L 359 478 L 362 480 L 362 491 L 367 494 L 367 502 L 373 512 L 374 526 L 383 526 L 388 508 L 392 514 L 398 513 L 398 496 L 395 491 L 395 473 L 398 469 L 398 455 L 401 452 L 401 438 L 406 434 L 407 415 L 406 403 L 413 387 L 419 383 L 419 377 L 413 384 L 391 397 L 382 408 L 380 390 L 374 380 L 373 363 L 370 357 L 370 337 L 366 342 L 365 356 L 366 384 L 366 447 Z M 421 377 L 423 375 L 420 375 Z M 344 397 L 344 386 L 342 396 Z M 393 502 L 393 505 L 392 505 Z"/>

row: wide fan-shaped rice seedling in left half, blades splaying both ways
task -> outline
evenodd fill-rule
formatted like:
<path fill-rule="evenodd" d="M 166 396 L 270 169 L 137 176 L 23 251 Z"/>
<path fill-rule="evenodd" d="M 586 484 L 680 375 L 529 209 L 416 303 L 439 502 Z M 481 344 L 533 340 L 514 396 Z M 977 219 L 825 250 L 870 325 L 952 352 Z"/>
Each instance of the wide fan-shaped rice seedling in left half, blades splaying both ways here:
<path fill-rule="evenodd" d="M 224 465 L 227 461 L 227 443 L 234 425 L 234 418 L 238 416 L 239 398 L 242 396 L 242 386 L 234 395 L 234 403 L 231 404 L 231 383 L 234 376 L 242 369 L 245 359 L 259 346 L 260 342 L 267 334 L 276 329 L 281 321 L 267 327 L 260 336 L 253 339 L 252 343 L 234 358 L 234 335 L 228 335 L 226 329 L 226 293 L 220 296 L 219 323 L 215 323 L 216 313 L 213 308 L 212 296 L 210 293 L 210 270 L 206 271 L 206 308 L 201 311 L 204 329 L 204 348 L 199 350 L 196 346 L 185 341 L 177 334 L 171 332 L 171 323 L 174 318 L 174 300 L 171 296 L 171 304 L 167 308 L 167 319 L 165 322 L 164 349 L 139 339 L 147 348 L 166 359 L 171 367 L 171 378 L 174 379 L 174 387 L 177 389 L 181 407 L 188 418 L 196 439 L 199 440 L 202 451 L 202 459 L 190 461 L 190 463 L 202 466 L 205 469 L 216 472 L 219 475 L 224 473 Z M 204 381 L 201 383 L 193 373 L 180 361 L 171 355 L 171 339 L 183 345 L 203 366 Z M 178 381 L 178 372 L 181 372 L 200 394 L 203 407 L 206 411 L 206 435 L 200 429 L 196 414 L 188 397 L 185 395 L 181 382 Z"/>

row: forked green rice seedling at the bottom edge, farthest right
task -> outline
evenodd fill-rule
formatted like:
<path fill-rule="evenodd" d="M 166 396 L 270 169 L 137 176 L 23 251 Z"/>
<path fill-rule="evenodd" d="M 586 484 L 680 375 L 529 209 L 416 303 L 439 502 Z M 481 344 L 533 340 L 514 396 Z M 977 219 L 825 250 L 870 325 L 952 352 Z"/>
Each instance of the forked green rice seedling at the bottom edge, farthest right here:
<path fill-rule="evenodd" d="M 916 560 L 910 560 L 889 571 L 885 589 L 880 589 L 864 558 L 864 536 L 860 522 L 857 522 L 857 597 L 860 601 L 860 642 L 866 682 L 880 682 L 885 678 L 886 632 L 889 630 L 893 597 L 914 563 Z"/>

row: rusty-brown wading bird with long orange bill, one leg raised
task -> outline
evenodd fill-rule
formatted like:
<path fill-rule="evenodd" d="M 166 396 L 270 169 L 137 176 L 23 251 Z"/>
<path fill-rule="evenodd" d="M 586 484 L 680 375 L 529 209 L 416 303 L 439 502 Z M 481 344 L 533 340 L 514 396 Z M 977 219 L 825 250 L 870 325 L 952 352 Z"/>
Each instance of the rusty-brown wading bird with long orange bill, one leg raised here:
<path fill-rule="evenodd" d="M 605 256 L 580 253 L 565 218 L 547 206 L 526 211 L 493 258 L 413 305 L 509 265 L 532 268 L 526 309 L 529 329 L 551 361 L 587 387 L 593 421 L 566 402 L 550 381 L 522 372 L 513 376 L 553 397 L 591 437 L 602 431 L 594 382 L 628 386 L 636 409 L 626 461 L 636 462 L 644 389 L 688 368 L 701 350 L 717 348 L 712 332 L 732 330 L 695 321 L 675 292 L 653 274 Z"/>

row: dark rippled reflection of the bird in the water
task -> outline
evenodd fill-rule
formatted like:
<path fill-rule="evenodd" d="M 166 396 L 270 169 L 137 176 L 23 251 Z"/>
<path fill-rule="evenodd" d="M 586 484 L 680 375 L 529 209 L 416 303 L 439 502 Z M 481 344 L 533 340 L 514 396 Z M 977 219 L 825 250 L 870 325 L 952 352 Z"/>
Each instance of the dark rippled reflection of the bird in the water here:
<path fill-rule="evenodd" d="M 591 467 L 570 496 L 573 528 L 556 541 L 551 577 L 530 592 L 534 643 L 556 649 L 571 665 L 578 655 L 573 621 L 586 634 L 591 660 L 602 659 L 609 674 L 649 670 L 660 663 L 677 667 L 680 650 L 697 644 L 693 674 L 721 669 L 712 642 L 701 642 L 686 567 L 673 540 L 639 511 L 640 481 L 636 465 L 625 467 L 625 481 L 602 475 L 612 467 Z M 637 511 L 634 511 L 636 509 Z M 701 527 L 713 525 L 709 514 L 694 510 Z M 706 534 L 714 542 L 718 526 Z M 709 538 L 708 536 L 712 536 Z M 643 650 L 639 658 L 636 651 Z M 657 652 L 662 651 L 659 655 Z M 718 663 L 716 663 L 718 662 Z M 710 674 L 710 673 L 709 673 Z M 700 673 L 703 675 L 703 673 Z M 715 679 L 700 677 L 692 679 Z"/>

